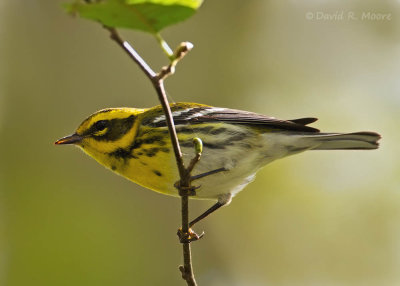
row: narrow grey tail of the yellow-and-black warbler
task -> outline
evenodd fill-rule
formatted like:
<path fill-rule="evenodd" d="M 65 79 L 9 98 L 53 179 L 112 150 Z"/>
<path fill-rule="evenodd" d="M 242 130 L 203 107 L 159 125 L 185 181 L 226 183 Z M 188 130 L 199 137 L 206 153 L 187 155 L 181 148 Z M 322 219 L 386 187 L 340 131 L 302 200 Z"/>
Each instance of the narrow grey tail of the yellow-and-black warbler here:
<path fill-rule="evenodd" d="M 377 149 L 381 136 L 375 132 L 317 133 L 303 137 L 312 140 L 312 150 L 368 150 Z"/>

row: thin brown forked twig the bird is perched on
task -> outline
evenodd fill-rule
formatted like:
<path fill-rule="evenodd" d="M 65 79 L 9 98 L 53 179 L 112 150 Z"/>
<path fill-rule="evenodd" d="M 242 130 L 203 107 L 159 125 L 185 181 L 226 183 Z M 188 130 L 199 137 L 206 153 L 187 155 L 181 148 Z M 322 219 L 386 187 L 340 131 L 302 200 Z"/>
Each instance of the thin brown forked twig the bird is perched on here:
<path fill-rule="evenodd" d="M 193 45 L 191 43 L 182 43 L 176 52 L 170 56 L 170 64 L 166 67 L 163 67 L 161 71 L 156 74 L 150 66 L 139 56 L 139 54 L 133 49 L 133 47 L 126 41 L 124 41 L 120 35 L 118 34 L 115 28 L 104 26 L 110 32 L 110 37 L 114 40 L 127 54 L 128 56 L 140 67 L 140 69 L 145 73 L 145 75 L 150 79 L 153 84 L 158 99 L 161 102 L 161 106 L 163 108 L 169 135 L 171 137 L 171 143 L 175 153 L 175 159 L 179 170 L 180 181 L 178 186 L 179 194 L 181 195 L 181 208 L 182 208 L 182 232 L 185 235 L 189 235 L 189 195 L 191 187 L 191 171 L 193 170 L 196 163 L 200 160 L 201 151 L 197 152 L 196 149 L 196 157 L 191 161 L 189 168 L 186 169 L 183 163 L 182 152 L 179 146 L 178 136 L 176 134 L 176 129 L 174 125 L 174 120 L 172 117 L 171 108 L 168 103 L 168 99 L 166 96 L 165 88 L 164 88 L 164 79 L 169 75 L 175 72 L 176 64 L 189 52 Z M 165 42 L 160 42 L 164 43 Z M 168 47 L 168 46 L 163 46 Z M 169 47 L 168 47 L 169 48 Z M 168 50 L 167 54 L 169 54 Z M 200 141 L 201 142 L 201 141 Z M 197 143 L 199 144 L 199 143 Z M 196 286 L 196 280 L 193 274 L 193 266 L 192 266 L 192 255 L 190 249 L 190 240 L 182 241 L 183 248 L 183 266 L 179 266 L 179 270 L 182 273 L 182 278 L 186 281 L 189 286 Z"/>

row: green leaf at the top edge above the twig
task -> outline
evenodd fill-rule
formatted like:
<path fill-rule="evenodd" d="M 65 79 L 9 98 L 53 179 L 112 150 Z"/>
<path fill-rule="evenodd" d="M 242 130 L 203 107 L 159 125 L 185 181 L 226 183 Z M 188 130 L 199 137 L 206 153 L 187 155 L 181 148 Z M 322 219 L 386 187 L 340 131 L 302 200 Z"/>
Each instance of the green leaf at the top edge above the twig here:
<path fill-rule="evenodd" d="M 115 28 L 157 34 L 161 29 L 192 16 L 203 0 L 77 0 L 66 10 Z"/>

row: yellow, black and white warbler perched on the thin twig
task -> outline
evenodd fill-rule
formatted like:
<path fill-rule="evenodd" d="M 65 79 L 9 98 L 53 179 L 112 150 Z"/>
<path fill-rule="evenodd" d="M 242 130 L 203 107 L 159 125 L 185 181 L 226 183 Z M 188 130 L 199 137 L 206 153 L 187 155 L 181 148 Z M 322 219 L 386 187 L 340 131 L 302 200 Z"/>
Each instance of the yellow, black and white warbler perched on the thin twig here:
<path fill-rule="evenodd" d="M 193 175 L 223 170 L 198 180 L 194 198 L 225 205 L 273 160 L 306 150 L 376 149 L 374 132 L 320 133 L 307 126 L 316 118 L 279 120 L 264 115 L 196 103 L 171 104 L 186 165 L 193 138 L 203 142 Z M 178 196 L 179 174 L 161 106 L 100 110 L 73 135 L 56 144 L 75 144 L 100 164 L 151 190 Z"/>

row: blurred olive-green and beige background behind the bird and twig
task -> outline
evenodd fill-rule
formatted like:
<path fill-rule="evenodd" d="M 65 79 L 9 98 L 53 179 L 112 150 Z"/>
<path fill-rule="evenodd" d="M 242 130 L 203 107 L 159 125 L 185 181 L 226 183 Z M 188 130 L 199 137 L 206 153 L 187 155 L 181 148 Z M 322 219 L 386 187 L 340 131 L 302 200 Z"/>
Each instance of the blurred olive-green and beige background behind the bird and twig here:
<path fill-rule="evenodd" d="M 0 285 L 184 285 L 179 200 L 53 145 L 98 109 L 158 104 L 107 32 L 61 3 L 0 1 Z M 166 83 L 173 101 L 383 135 L 377 151 L 307 152 L 261 170 L 196 227 L 200 285 L 400 285 L 399 9 L 209 0 L 164 31 L 172 46 L 195 45 Z M 166 63 L 151 36 L 121 33 L 154 68 Z M 210 204 L 192 202 L 192 216 Z"/>

